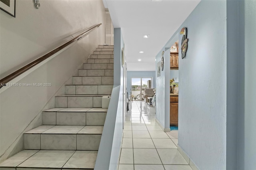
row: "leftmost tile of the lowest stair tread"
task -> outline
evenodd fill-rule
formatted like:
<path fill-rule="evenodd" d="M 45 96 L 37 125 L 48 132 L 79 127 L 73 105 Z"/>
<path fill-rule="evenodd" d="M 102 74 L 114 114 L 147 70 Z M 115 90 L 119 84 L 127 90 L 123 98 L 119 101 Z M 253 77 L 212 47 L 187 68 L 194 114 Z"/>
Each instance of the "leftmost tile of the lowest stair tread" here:
<path fill-rule="evenodd" d="M 0 166 L 16 167 L 38 151 L 39 150 L 22 150 L 21 152 L 18 152 L 14 156 L 0 163 Z"/>

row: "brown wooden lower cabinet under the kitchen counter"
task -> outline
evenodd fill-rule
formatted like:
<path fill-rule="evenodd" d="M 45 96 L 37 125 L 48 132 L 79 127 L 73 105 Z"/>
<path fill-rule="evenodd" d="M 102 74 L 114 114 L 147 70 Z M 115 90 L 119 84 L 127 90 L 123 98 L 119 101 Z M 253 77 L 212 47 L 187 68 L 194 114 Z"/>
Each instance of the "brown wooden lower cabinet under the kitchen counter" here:
<path fill-rule="evenodd" d="M 170 96 L 170 126 L 178 127 L 178 96 Z"/>

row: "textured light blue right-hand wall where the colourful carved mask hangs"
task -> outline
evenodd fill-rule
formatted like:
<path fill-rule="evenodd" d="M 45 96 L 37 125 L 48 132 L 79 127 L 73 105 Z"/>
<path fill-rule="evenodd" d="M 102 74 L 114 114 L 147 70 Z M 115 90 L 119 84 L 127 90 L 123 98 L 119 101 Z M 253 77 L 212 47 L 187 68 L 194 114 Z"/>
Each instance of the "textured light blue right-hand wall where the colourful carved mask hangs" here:
<path fill-rule="evenodd" d="M 226 169 L 226 1 L 201 1 L 176 34 L 183 27 L 188 51 L 179 60 L 179 145 L 199 169 Z"/>

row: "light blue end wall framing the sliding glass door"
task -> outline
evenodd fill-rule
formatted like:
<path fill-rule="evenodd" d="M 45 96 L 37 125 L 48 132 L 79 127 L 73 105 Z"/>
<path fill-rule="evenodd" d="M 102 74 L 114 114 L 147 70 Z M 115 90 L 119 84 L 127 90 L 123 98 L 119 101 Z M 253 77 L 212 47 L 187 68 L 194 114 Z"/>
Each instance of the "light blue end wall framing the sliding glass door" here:
<path fill-rule="evenodd" d="M 156 71 L 127 71 L 128 96 L 132 88 L 132 77 L 152 77 L 152 88 L 156 88 Z"/>

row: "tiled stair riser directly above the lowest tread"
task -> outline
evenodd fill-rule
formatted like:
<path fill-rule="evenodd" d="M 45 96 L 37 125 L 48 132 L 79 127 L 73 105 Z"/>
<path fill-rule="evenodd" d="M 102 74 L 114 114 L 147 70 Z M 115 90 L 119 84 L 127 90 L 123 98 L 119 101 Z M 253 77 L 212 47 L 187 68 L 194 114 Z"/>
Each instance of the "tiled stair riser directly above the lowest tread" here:
<path fill-rule="evenodd" d="M 24 149 L 98 150 L 101 134 L 24 134 Z"/>

